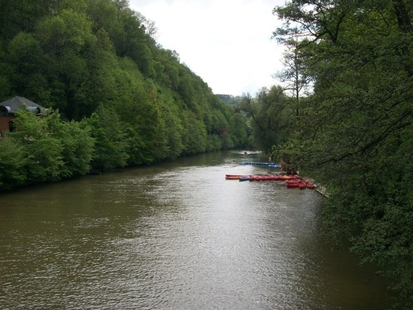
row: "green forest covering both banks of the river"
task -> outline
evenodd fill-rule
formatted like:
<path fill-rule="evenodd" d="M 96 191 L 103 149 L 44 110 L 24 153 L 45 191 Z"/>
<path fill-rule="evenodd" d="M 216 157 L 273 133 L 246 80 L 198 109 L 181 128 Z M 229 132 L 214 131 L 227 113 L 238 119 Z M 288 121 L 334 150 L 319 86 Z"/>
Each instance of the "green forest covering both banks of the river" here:
<path fill-rule="evenodd" d="M 0 190 L 218 149 L 256 147 L 326 187 L 332 249 L 348 247 L 413 309 L 413 3 L 276 6 L 279 85 L 213 94 L 127 0 L 0 0 Z M 213 61 L 213 60 L 211 60 Z"/>

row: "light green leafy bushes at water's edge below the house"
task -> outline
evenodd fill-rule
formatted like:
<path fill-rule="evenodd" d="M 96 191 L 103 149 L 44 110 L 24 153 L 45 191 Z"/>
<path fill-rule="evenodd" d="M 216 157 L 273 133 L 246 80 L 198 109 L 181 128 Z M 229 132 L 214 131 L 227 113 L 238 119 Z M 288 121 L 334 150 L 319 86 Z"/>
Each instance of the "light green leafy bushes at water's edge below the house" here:
<path fill-rule="evenodd" d="M 19 112 L 19 130 L 0 139 L 0 188 L 87 174 L 94 138 L 83 122 L 61 122 L 58 112 Z"/>

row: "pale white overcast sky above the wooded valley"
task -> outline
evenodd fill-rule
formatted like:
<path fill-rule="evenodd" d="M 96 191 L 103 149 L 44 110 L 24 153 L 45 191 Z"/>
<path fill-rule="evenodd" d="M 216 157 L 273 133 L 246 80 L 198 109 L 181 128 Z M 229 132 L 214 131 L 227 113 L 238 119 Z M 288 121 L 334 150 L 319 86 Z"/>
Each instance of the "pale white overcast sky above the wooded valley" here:
<path fill-rule="evenodd" d="M 154 21 L 157 42 L 211 87 L 234 96 L 277 85 L 282 47 L 271 40 L 280 25 L 272 14 L 285 0 L 129 0 Z"/>

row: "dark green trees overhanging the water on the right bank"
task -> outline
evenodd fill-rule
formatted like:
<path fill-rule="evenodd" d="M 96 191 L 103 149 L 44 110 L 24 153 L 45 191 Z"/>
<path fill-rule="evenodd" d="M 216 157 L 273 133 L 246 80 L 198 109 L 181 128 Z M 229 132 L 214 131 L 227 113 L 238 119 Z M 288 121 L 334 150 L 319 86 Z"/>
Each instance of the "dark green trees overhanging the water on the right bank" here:
<path fill-rule="evenodd" d="M 313 93 L 273 155 L 327 186 L 330 237 L 379 265 L 394 307 L 412 309 L 413 3 L 291 0 L 274 12 L 295 85 Z"/>

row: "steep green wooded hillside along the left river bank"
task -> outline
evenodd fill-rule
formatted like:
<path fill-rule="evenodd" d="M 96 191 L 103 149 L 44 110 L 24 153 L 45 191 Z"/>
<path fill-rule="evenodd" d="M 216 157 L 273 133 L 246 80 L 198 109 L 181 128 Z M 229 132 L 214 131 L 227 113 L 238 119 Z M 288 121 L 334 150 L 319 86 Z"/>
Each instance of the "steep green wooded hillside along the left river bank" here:
<path fill-rule="evenodd" d="M 127 0 L 0 7 L 0 101 L 55 111 L 20 114 L 0 139 L 0 189 L 246 147 L 243 116 L 158 45 Z"/>

